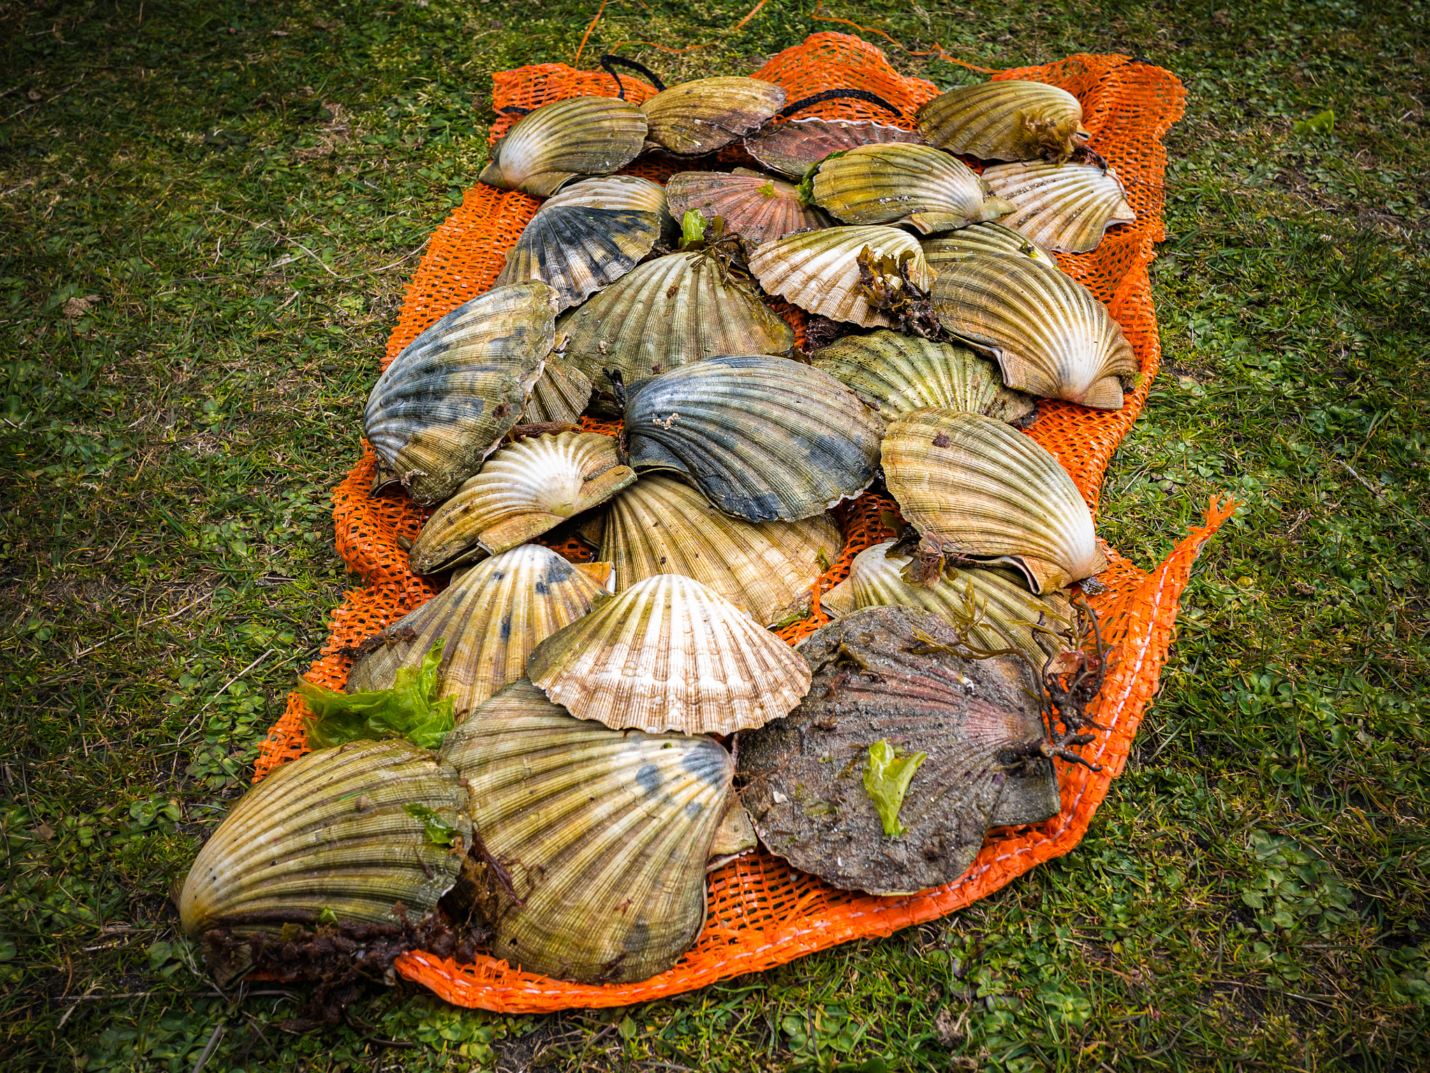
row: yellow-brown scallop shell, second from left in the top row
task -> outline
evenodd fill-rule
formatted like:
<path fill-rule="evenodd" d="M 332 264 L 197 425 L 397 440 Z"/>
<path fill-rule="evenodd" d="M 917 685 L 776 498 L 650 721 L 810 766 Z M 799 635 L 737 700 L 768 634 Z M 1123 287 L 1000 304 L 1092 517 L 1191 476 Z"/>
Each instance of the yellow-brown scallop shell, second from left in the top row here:
<path fill-rule="evenodd" d="M 649 140 L 671 153 L 714 153 L 759 130 L 785 106 L 772 82 L 742 77 L 696 79 L 661 90 L 641 103 Z"/>

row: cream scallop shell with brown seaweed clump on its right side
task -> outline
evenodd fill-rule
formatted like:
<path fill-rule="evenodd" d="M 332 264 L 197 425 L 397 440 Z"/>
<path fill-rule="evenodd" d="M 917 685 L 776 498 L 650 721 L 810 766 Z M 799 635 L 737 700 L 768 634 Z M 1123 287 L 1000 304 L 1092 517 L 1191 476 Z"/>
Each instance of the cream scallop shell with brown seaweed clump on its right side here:
<path fill-rule="evenodd" d="M 892 328 L 894 322 L 871 309 L 859 283 L 859 252 L 914 258 L 912 279 L 928 290 L 937 276 L 924 260 L 918 239 L 898 227 L 827 227 L 766 242 L 749 258 L 749 270 L 771 295 L 831 320 L 852 320 L 861 328 Z"/>

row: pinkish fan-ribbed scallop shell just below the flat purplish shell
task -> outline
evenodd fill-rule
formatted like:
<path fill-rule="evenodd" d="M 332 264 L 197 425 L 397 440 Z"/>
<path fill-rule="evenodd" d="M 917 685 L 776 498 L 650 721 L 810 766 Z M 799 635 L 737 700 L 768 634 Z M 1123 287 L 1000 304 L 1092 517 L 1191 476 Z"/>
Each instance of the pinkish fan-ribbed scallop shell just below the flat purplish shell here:
<path fill-rule="evenodd" d="M 829 217 L 799 200 L 798 187 L 784 179 L 736 167 L 724 172 L 681 172 L 665 185 L 671 210 L 682 217 L 699 209 L 708 220 L 725 220 L 734 232 L 756 246 L 785 235 L 829 226 Z"/>

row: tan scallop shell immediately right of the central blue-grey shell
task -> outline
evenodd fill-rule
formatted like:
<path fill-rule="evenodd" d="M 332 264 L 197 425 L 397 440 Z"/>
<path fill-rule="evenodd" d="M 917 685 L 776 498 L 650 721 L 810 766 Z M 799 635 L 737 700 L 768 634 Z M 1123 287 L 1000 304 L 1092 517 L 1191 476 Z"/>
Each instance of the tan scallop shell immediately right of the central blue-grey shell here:
<path fill-rule="evenodd" d="M 919 551 L 1008 565 L 1034 592 L 1107 569 L 1072 478 L 1031 438 L 978 413 L 917 409 L 888 426 L 884 479 Z"/>

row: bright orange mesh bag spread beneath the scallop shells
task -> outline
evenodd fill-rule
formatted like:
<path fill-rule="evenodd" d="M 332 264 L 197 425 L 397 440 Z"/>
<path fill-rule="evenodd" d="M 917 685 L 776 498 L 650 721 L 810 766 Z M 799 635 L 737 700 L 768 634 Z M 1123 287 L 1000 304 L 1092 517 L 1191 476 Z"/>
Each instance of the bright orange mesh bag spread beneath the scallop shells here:
<path fill-rule="evenodd" d="M 791 99 L 828 89 L 871 90 L 902 110 L 904 117 L 898 122 L 907 127 L 912 126 L 918 104 L 938 92 L 932 83 L 899 76 L 878 49 L 841 33 L 814 34 L 771 59 L 755 76 L 784 86 Z M 1185 94 L 1168 72 L 1124 56 L 1072 56 L 995 77 L 1047 82 L 1074 93 L 1083 102 L 1093 147 L 1117 167 L 1137 212 L 1134 225 L 1110 232 L 1097 250 L 1060 255 L 1058 262 L 1091 288 L 1121 323 L 1141 362 L 1140 386 L 1115 413 L 1044 401 L 1037 422 L 1028 429 L 1028 435 L 1057 455 L 1095 512 L 1103 472 L 1137 419 L 1157 375 L 1160 346 L 1147 265 L 1154 256 L 1153 243 L 1164 236 L 1165 150 L 1161 137 L 1181 116 Z M 644 100 L 654 92 L 636 79 L 622 76 L 622 83 L 628 100 Z M 493 134 L 503 132 L 519 114 L 516 109 L 503 113 L 509 106 L 532 109 L 582 93 L 618 93 L 609 74 L 579 72 L 559 63 L 500 72 L 495 84 L 493 103 L 502 120 L 495 124 Z M 825 102 L 807 114 L 889 122 L 887 113 L 858 100 Z M 689 165 L 655 157 L 642 159 L 631 170 L 664 182 L 682 167 Z M 433 320 L 492 285 L 506 250 L 536 207 L 533 197 L 521 193 L 489 186 L 468 192 L 462 206 L 432 236 L 388 345 L 389 361 Z M 802 329 L 799 310 L 784 308 L 781 312 Z M 333 612 L 332 638 L 307 674 L 333 688 L 340 688 L 346 680 L 352 662 L 349 645 L 395 622 L 436 591 L 408 569 L 408 557 L 399 544 L 416 535 L 428 512 L 413 506 L 400 489 L 373 495 L 369 491 L 375 458 L 368 449 L 333 495 L 337 549 L 349 568 L 366 581 L 365 588 L 349 592 Z M 1083 751 L 1103 770 L 1094 773 L 1058 761 L 1061 814 L 1037 827 L 992 831 L 972 867 L 957 881 L 909 897 L 868 897 L 828 887 L 768 854 L 754 854 L 711 874 L 709 916 L 699 941 L 674 969 L 642 983 L 565 983 L 525 973 L 485 954 L 478 956 L 475 964 L 458 966 L 432 954 L 412 953 L 398 961 L 398 970 L 459 1006 L 508 1013 L 626 1006 L 941 917 L 998 890 L 1040 861 L 1067 853 L 1081 840 L 1111 780 L 1127 763 L 1143 710 L 1157 690 L 1193 561 L 1233 509 L 1233 504 L 1213 501 L 1205 524 L 1191 529 L 1151 574 L 1140 572 L 1105 548 L 1113 565 L 1100 581 L 1107 589 L 1091 602 L 1104 638 L 1118 645 L 1121 658 L 1090 710 L 1107 730 Z M 857 552 L 892 535 L 895 511 L 892 502 L 874 495 L 838 509 L 845 548 L 819 579 L 817 594 L 847 575 Z M 589 555 L 575 542 L 553 542 L 552 547 L 572 558 Z M 794 644 L 825 621 L 817 604 L 809 618 L 784 629 L 782 637 Z M 293 694 L 286 714 L 263 744 L 255 781 L 306 751 L 303 717 L 305 710 Z"/>

